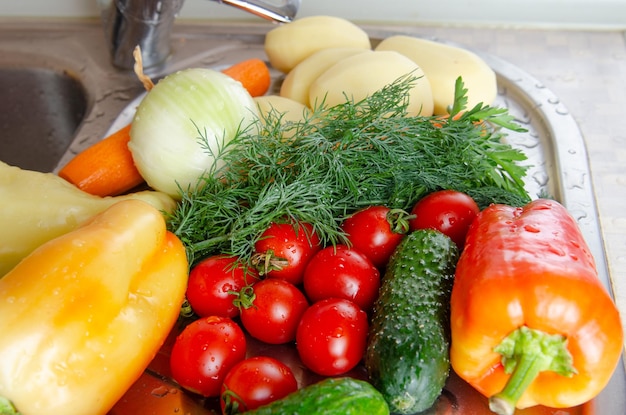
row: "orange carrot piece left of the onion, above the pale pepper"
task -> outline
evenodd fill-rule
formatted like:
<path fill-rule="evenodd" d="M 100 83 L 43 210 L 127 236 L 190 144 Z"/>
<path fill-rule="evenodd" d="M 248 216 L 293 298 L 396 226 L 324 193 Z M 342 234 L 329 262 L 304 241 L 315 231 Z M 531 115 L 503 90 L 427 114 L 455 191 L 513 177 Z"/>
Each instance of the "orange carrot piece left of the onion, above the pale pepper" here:
<path fill-rule="evenodd" d="M 96 196 L 116 196 L 144 182 L 128 149 L 130 124 L 78 153 L 59 176 Z"/>

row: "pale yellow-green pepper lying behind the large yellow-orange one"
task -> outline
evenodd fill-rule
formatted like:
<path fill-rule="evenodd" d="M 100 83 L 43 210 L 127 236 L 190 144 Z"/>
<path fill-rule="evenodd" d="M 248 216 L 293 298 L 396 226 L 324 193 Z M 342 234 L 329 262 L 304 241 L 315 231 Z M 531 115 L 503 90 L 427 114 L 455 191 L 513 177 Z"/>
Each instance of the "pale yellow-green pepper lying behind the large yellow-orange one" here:
<path fill-rule="evenodd" d="M 155 191 L 94 196 L 55 174 L 0 162 L 0 278 L 39 245 L 125 199 L 144 200 L 167 212 L 176 206 L 174 199 Z"/>

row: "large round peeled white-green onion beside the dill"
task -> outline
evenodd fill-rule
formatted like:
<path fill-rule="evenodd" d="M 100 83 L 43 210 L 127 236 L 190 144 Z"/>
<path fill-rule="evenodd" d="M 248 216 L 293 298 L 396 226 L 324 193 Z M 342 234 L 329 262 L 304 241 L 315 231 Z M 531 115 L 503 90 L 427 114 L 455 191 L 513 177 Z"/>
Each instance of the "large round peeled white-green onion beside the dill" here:
<path fill-rule="evenodd" d="M 143 98 L 128 147 L 146 183 L 180 199 L 181 189 L 193 189 L 203 174 L 221 167 L 215 155 L 257 119 L 241 83 L 216 70 L 186 69 L 160 80 Z"/>

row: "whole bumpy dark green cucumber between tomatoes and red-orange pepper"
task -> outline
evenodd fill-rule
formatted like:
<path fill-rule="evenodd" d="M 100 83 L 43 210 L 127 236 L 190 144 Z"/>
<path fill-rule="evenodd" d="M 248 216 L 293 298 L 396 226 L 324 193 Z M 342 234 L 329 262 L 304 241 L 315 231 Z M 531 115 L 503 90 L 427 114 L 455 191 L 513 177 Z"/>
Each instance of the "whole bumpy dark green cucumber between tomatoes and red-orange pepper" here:
<path fill-rule="evenodd" d="M 408 234 L 392 254 L 365 353 L 371 383 L 392 413 L 432 407 L 450 373 L 450 294 L 459 252 L 434 230 Z"/>

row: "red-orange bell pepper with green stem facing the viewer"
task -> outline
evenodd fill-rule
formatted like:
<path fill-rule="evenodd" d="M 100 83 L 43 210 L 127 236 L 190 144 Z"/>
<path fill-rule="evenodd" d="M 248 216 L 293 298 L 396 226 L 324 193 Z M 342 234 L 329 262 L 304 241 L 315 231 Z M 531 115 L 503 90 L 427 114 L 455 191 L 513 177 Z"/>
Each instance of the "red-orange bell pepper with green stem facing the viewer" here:
<path fill-rule="evenodd" d="M 451 364 L 492 411 L 572 407 L 609 382 L 619 312 L 567 210 L 492 205 L 472 223 L 451 298 Z"/>

